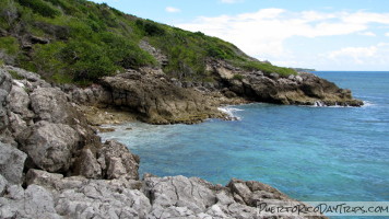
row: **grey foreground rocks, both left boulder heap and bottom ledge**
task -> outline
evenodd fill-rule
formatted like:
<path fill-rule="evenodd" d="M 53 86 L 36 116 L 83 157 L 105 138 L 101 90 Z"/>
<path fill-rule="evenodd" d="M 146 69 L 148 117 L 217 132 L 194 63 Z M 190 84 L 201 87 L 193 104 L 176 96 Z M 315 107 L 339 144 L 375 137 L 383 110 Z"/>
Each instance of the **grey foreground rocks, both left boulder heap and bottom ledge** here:
<path fill-rule="evenodd" d="M 71 99 L 35 73 L 0 68 L 0 218 L 305 218 L 260 211 L 303 204 L 259 182 L 140 180 L 139 157 L 102 143 Z"/>

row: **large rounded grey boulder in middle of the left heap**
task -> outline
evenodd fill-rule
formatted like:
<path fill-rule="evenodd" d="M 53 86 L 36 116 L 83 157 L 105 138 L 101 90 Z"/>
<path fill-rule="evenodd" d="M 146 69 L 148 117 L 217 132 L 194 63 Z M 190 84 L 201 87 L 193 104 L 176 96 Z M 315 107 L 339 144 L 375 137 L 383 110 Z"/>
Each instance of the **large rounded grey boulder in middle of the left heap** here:
<path fill-rule="evenodd" d="M 43 120 L 23 131 L 17 141 L 28 154 L 28 168 L 67 172 L 80 145 L 80 135 L 68 125 Z"/>

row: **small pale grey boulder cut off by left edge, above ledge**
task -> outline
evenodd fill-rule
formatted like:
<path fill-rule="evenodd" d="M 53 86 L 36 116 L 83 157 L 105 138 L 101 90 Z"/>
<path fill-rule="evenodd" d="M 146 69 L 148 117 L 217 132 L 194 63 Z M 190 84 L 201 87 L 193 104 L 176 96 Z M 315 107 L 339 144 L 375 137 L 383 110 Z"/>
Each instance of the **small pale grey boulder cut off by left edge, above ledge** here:
<path fill-rule="evenodd" d="M 22 184 L 26 158 L 24 152 L 0 142 L 0 174 L 11 184 Z"/>

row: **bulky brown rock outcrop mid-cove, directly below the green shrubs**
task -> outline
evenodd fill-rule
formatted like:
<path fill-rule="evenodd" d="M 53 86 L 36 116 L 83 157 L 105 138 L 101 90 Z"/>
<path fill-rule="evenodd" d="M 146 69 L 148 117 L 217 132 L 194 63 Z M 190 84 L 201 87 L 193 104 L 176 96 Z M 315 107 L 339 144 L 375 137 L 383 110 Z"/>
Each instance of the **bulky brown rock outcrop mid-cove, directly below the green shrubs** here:
<path fill-rule="evenodd" d="M 216 108 L 219 102 L 175 85 L 161 70 L 131 70 L 103 78 L 102 84 L 111 92 L 111 105 L 127 107 L 148 123 L 191 124 L 222 116 Z"/>

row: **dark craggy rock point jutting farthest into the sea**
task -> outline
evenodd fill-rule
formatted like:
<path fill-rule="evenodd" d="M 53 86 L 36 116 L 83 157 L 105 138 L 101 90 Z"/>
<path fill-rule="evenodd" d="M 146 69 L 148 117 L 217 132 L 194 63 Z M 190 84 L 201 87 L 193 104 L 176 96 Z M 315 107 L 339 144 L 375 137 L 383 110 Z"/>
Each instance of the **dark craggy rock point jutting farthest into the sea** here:
<path fill-rule="evenodd" d="M 224 82 L 228 89 L 224 93 L 228 96 L 235 94 L 255 102 L 287 105 L 363 105 L 362 101 L 352 97 L 350 90 L 340 89 L 313 73 L 296 72 L 284 77 L 274 72 L 246 71 L 221 60 L 209 61 L 207 68 Z"/>

